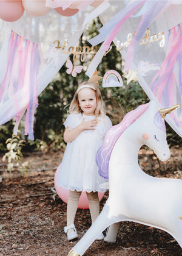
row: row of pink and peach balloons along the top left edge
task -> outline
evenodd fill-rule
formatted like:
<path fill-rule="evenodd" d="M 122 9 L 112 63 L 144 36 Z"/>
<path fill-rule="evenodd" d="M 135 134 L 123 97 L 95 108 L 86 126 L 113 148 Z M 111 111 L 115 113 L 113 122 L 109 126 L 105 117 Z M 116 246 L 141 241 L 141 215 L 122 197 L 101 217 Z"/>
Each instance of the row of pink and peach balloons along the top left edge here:
<path fill-rule="evenodd" d="M 58 1 L 58 0 L 57 0 Z M 60 1 L 63 5 L 68 3 L 69 1 Z M 79 5 L 82 1 L 71 1 L 73 4 L 70 4 L 68 8 L 62 9 L 62 7 L 55 8 L 56 12 L 63 16 L 73 16 L 75 15 L 79 9 Z M 91 1 L 93 7 L 98 5 L 98 1 Z M 100 1 L 99 4 L 103 2 Z M 51 7 L 47 7 L 46 0 L 0 0 L 0 18 L 4 21 L 17 21 L 24 14 L 26 10 L 32 16 L 43 16 Z"/>

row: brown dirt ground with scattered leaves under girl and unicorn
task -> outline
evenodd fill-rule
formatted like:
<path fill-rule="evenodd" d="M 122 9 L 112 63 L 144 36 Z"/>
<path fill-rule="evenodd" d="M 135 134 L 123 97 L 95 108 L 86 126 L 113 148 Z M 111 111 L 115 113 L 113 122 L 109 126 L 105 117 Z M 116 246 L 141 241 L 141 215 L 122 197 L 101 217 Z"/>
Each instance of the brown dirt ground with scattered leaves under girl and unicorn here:
<path fill-rule="evenodd" d="M 30 162 L 27 179 L 16 169 L 9 173 L 7 165 L 0 160 L 0 256 L 66 256 L 89 229 L 89 210 L 78 209 L 75 219 L 78 240 L 67 241 L 66 204 L 56 194 L 53 182 L 62 154 L 24 154 L 22 162 Z M 150 175 L 182 179 L 181 155 L 182 149 L 171 149 L 170 159 L 162 163 L 152 151 L 141 149 L 138 159 L 141 168 Z M 101 201 L 101 209 L 108 194 L 107 191 Z M 125 221 L 121 223 L 116 243 L 95 241 L 84 255 L 179 256 L 182 250 L 168 233 Z"/>

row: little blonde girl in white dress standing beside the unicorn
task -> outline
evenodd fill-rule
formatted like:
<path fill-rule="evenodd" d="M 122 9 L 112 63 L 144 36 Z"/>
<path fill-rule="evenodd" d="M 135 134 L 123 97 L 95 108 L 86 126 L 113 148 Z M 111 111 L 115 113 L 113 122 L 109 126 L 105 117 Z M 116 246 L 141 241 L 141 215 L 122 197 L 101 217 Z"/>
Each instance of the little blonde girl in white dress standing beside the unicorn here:
<path fill-rule="evenodd" d="M 79 85 L 69 112 L 64 122 L 67 147 L 58 167 L 57 185 L 70 190 L 64 232 L 67 240 L 73 240 L 78 237 L 74 220 L 81 191 L 86 191 L 92 223 L 99 215 L 98 191 L 106 191 L 99 185 L 106 180 L 98 174 L 95 155 L 112 123 L 105 114 L 101 92 L 93 82 Z M 97 239 L 103 238 L 101 233 Z"/>

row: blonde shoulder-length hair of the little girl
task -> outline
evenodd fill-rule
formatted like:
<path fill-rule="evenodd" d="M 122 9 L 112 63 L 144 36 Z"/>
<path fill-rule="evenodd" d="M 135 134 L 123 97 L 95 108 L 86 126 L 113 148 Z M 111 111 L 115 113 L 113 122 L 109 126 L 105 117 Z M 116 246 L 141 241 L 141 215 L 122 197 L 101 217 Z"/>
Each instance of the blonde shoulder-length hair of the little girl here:
<path fill-rule="evenodd" d="M 105 106 L 104 102 L 101 96 L 101 91 L 99 90 L 98 86 L 94 82 L 83 82 L 81 85 L 78 86 L 77 90 L 75 91 L 75 94 L 73 96 L 72 102 L 69 107 L 69 112 L 78 114 L 78 113 L 83 113 L 81 108 L 79 107 L 79 101 L 78 101 L 78 93 L 79 93 L 79 87 L 83 85 L 90 85 L 90 89 L 95 92 L 95 97 L 96 97 L 96 109 L 95 109 L 95 116 L 99 115 L 106 115 L 105 112 Z M 95 90 L 93 88 L 95 88 Z"/>

